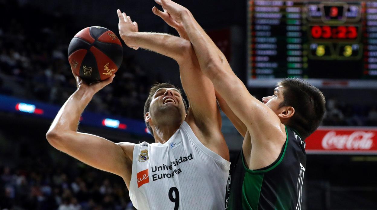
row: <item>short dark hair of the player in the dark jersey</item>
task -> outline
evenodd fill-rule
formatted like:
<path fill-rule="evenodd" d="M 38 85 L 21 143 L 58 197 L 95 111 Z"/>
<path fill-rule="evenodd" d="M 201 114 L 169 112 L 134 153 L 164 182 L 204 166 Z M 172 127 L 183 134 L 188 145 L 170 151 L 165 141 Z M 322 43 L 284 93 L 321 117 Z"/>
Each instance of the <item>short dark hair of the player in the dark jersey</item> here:
<path fill-rule="evenodd" d="M 291 106 L 294 108 L 294 115 L 286 125 L 297 130 L 305 139 L 317 130 L 325 114 L 323 93 L 310 83 L 297 78 L 286 78 L 277 83 L 277 86 L 284 87 L 284 101 L 280 107 Z"/>

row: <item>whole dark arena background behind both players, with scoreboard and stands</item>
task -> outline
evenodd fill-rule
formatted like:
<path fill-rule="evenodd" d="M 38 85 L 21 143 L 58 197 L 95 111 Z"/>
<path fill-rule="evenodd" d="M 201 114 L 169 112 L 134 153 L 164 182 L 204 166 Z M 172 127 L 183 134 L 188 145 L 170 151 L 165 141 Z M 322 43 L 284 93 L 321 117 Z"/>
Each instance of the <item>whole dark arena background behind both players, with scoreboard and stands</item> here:
<path fill-rule="evenodd" d="M 377 208 L 377 2 L 180 0 L 257 99 L 298 77 L 326 97 L 306 140 L 302 209 Z M 153 0 L 0 0 L 0 209 L 129 210 L 124 181 L 49 145 L 45 134 L 76 89 L 67 48 L 81 29 L 118 34 L 116 9 L 141 32 L 178 35 Z M 180 85 L 174 60 L 123 43 L 113 83 L 95 95 L 79 131 L 113 142 L 153 142 L 143 106 L 151 85 Z M 242 137 L 222 113 L 231 157 Z"/>

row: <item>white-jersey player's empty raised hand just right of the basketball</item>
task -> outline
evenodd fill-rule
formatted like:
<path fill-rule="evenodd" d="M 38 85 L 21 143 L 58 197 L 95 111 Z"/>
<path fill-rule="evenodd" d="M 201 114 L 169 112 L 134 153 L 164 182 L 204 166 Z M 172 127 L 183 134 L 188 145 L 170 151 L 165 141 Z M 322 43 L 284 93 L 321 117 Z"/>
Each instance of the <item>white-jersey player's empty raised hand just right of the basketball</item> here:
<path fill-rule="evenodd" d="M 139 47 L 133 44 L 134 42 L 129 35 L 132 32 L 139 32 L 138 24 L 135 21 L 132 22 L 130 16 L 126 16 L 126 13 L 124 12 L 122 14 L 119 9 L 116 11 L 116 13 L 118 14 L 119 18 L 118 29 L 120 37 L 128 47 L 137 50 Z"/>

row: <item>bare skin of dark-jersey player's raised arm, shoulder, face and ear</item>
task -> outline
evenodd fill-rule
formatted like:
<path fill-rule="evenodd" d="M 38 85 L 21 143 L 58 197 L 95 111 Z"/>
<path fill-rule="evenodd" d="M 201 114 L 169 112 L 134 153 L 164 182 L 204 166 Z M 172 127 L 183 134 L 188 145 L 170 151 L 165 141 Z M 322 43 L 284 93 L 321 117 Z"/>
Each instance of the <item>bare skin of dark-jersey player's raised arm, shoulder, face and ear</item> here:
<path fill-rule="evenodd" d="M 259 169 L 273 163 L 287 137 L 283 123 L 294 114 L 293 107 L 277 106 L 284 100 L 284 88 L 278 87 L 274 96 L 264 100 L 265 103 L 258 101 L 233 73 L 224 54 L 199 26 L 188 9 L 171 0 L 156 2 L 184 26 L 198 57 L 200 69 L 211 80 L 231 112 L 247 128 L 242 145 L 245 164 L 249 169 Z M 227 115 L 229 114 L 231 115 L 228 110 Z M 242 127 L 241 132 L 244 133 Z"/>

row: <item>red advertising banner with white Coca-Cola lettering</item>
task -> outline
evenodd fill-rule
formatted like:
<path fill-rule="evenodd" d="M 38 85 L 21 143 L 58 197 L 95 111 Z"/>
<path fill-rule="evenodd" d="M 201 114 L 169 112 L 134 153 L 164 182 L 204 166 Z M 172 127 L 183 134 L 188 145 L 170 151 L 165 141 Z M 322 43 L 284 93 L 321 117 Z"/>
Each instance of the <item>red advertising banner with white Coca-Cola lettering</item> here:
<path fill-rule="evenodd" d="M 305 143 L 308 154 L 377 154 L 377 128 L 320 127 Z"/>

